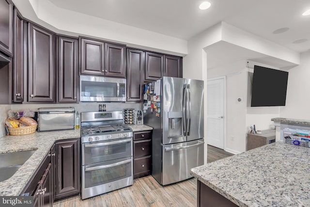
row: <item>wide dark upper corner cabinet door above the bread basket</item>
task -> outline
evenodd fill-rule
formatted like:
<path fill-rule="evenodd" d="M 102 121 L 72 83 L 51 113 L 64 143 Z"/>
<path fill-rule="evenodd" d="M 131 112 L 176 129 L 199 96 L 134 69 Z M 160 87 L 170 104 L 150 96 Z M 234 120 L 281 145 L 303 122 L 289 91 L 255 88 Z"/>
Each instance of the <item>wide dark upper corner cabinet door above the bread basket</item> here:
<path fill-rule="evenodd" d="M 28 101 L 55 102 L 55 35 L 29 23 Z"/>

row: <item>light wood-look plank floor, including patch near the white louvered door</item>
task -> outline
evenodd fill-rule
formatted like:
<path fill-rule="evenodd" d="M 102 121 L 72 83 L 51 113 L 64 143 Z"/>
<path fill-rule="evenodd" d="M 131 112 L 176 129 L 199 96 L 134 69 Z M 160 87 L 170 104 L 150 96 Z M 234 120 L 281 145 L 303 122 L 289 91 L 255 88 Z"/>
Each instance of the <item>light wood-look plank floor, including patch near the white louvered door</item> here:
<path fill-rule="evenodd" d="M 208 145 L 207 162 L 233 154 Z M 197 179 L 161 186 L 151 176 L 134 179 L 132 186 L 81 200 L 80 196 L 54 203 L 54 207 L 196 207 Z"/>

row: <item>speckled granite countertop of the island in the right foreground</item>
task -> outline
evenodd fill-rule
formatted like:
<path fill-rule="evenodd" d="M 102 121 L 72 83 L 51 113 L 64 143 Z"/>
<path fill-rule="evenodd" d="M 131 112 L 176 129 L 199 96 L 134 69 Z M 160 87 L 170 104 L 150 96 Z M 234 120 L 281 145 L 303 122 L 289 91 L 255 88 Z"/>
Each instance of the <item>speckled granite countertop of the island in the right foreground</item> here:
<path fill-rule="evenodd" d="M 310 148 L 276 142 L 191 169 L 241 207 L 309 207 Z"/>

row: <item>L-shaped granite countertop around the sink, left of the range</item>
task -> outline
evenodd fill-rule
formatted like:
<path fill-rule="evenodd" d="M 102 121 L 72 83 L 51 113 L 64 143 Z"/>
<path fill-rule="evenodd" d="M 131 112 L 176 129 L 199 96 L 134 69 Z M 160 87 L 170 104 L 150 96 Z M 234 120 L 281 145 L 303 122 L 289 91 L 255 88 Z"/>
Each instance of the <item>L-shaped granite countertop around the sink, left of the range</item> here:
<path fill-rule="evenodd" d="M 31 157 L 7 180 L 0 182 L 0 196 L 16 196 L 21 193 L 56 140 L 80 138 L 80 129 L 35 132 L 22 136 L 0 138 L 0 154 L 36 150 Z"/>

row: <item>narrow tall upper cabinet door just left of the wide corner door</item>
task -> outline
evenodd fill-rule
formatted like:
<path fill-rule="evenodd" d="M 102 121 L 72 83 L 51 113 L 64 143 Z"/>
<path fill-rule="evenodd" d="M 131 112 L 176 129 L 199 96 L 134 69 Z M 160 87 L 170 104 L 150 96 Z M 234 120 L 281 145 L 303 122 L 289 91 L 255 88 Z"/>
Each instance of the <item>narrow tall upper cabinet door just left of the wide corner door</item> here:
<path fill-rule="evenodd" d="M 14 9 L 13 101 L 24 101 L 24 20 Z"/>

